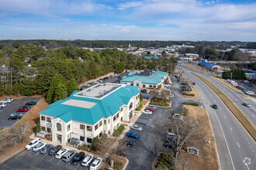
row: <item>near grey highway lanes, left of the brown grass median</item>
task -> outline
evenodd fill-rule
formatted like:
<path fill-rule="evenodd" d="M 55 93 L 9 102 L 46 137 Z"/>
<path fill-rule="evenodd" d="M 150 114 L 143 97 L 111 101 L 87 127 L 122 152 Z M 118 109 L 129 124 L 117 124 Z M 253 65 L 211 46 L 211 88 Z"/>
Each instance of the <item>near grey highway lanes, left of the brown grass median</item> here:
<path fill-rule="evenodd" d="M 191 69 L 189 69 L 189 71 L 195 72 Z M 213 133 L 216 139 L 221 168 L 237 170 L 255 169 L 256 147 L 254 140 L 247 134 L 247 131 L 244 130 L 213 90 L 191 73 L 186 70 L 184 70 L 184 72 L 189 80 L 196 83 L 195 89 L 199 92 L 204 107 L 206 107 L 206 110 L 209 113 L 209 118 L 213 125 Z M 203 76 L 202 73 L 199 75 Z M 203 77 L 206 78 L 206 76 Z M 207 79 L 209 80 L 209 77 Z M 215 82 L 213 83 L 216 85 L 219 84 Z M 220 84 L 217 87 L 219 86 Z M 220 89 L 223 90 L 224 93 L 227 93 L 225 88 L 220 87 Z M 218 109 L 213 109 L 211 107 L 212 104 L 217 104 Z"/>

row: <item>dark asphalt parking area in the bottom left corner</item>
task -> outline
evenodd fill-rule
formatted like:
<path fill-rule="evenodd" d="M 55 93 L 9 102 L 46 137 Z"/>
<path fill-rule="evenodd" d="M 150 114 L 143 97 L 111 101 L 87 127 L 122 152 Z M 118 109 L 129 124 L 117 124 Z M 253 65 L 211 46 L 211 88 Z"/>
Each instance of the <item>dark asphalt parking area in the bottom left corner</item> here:
<path fill-rule="evenodd" d="M 89 169 L 88 167 L 71 165 L 54 156 L 42 155 L 40 152 L 21 151 L 18 155 L 10 158 L 0 165 L 0 169 Z"/>

